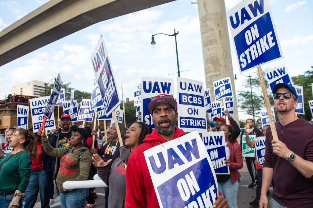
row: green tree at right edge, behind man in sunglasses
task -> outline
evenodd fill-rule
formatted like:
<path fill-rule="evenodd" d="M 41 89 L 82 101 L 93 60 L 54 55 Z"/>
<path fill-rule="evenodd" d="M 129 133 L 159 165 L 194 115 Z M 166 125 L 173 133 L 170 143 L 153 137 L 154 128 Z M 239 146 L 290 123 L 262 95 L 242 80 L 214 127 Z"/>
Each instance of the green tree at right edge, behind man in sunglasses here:
<path fill-rule="evenodd" d="M 312 100 L 312 87 L 311 83 L 313 83 L 313 66 L 308 71 L 305 71 L 304 74 L 291 77 L 293 83 L 295 85 L 299 85 L 303 87 L 303 104 L 304 104 L 304 112 L 305 115 L 300 115 L 303 119 L 307 121 L 312 121 L 312 114 L 310 111 L 310 106 L 308 101 Z"/>

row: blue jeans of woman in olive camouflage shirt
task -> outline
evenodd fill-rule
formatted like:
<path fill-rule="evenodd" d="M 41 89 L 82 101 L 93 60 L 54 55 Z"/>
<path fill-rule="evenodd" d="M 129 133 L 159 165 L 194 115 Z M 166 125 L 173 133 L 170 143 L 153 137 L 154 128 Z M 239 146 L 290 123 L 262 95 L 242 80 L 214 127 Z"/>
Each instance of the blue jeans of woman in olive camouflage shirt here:
<path fill-rule="evenodd" d="M 73 189 L 60 193 L 62 208 L 85 208 L 85 199 L 89 195 L 89 189 Z"/>

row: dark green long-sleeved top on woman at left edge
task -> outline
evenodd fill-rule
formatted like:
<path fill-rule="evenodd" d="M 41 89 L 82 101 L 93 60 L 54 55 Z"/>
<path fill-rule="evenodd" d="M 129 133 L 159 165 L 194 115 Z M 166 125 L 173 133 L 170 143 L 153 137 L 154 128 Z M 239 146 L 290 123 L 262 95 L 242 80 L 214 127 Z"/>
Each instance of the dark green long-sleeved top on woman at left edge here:
<path fill-rule="evenodd" d="M 28 152 L 10 152 L 0 161 L 0 167 L 0 192 L 18 190 L 25 193 L 32 169 Z"/>

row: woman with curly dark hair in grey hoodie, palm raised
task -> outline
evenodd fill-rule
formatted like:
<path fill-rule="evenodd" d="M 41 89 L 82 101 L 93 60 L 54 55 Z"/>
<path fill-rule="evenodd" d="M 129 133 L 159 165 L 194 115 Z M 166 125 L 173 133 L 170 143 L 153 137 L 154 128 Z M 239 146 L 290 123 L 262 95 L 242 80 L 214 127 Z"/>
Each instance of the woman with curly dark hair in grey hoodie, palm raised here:
<path fill-rule="evenodd" d="M 152 129 L 144 122 L 135 122 L 126 131 L 125 147 L 120 147 L 120 156 L 109 164 L 112 159 L 104 161 L 98 156 L 93 155 L 93 164 L 97 167 L 98 175 L 110 186 L 108 207 L 125 207 L 126 198 L 126 167 L 131 152 L 140 145 L 146 135 L 151 134 Z"/>

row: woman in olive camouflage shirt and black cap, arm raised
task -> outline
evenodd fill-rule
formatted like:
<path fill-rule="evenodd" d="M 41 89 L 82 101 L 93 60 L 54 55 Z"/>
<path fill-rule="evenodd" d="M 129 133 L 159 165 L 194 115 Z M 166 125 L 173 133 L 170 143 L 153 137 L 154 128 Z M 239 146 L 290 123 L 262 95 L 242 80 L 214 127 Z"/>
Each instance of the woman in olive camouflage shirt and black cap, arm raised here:
<path fill-rule="evenodd" d="M 63 188 L 65 181 L 87 180 L 92 163 L 91 153 L 84 146 L 84 140 L 88 138 L 87 130 L 78 128 L 76 125 L 73 125 L 71 130 L 73 131 L 72 146 L 53 148 L 48 141 L 45 129 L 41 133 L 42 146 L 48 155 L 61 158 L 56 183 L 60 191 L 62 208 L 84 208 L 89 189 L 67 190 Z"/>

